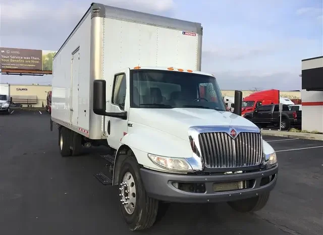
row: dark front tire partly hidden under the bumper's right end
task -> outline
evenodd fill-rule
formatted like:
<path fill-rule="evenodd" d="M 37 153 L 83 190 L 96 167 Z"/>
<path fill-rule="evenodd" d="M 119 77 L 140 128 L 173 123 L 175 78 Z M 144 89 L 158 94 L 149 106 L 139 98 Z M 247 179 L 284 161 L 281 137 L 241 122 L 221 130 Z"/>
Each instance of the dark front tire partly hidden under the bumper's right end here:
<path fill-rule="evenodd" d="M 228 204 L 232 209 L 242 213 L 258 211 L 267 204 L 269 196 L 270 192 L 267 192 L 257 197 L 228 202 Z"/>

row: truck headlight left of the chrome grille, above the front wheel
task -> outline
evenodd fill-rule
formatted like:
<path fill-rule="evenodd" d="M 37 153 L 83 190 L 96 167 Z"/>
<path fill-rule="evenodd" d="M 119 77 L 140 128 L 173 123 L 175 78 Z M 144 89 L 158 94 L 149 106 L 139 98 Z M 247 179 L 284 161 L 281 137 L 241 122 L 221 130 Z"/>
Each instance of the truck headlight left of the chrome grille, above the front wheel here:
<path fill-rule="evenodd" d="M 149 159 L 156 165 L 168 170 L 191 172 L 191 165 L 183 158 L 162 157 L 148 153 Z"/>

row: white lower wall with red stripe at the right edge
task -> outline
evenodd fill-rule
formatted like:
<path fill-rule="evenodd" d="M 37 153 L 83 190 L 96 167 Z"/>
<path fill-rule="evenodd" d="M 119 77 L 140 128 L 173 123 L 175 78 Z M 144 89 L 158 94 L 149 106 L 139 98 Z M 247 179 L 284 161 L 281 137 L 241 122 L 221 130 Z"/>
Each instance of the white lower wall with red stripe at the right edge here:
<path fill-rule="evenodd" d="M 323 132 L 323 91 L 302 90 L 302 130 Z"/>

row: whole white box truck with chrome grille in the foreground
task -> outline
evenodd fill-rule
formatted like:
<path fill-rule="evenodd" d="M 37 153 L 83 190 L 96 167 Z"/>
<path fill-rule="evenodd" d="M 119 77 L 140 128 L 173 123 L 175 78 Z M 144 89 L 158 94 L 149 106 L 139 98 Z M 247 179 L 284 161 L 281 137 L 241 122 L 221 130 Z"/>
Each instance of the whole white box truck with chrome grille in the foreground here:
<path fill-rule="evenodd" d="M 110 172 L 95 175 L 118 185 L 131 230 L 152 226 L 159 202 L 248 212 L 275 187 L 274 149 L 241 117 L 240 91 L 226 111 L 216 78 L 200 72 L 201 48 L 199 23 L 92 4 L 53 58 L 60 153 L 110 147 Z"/>

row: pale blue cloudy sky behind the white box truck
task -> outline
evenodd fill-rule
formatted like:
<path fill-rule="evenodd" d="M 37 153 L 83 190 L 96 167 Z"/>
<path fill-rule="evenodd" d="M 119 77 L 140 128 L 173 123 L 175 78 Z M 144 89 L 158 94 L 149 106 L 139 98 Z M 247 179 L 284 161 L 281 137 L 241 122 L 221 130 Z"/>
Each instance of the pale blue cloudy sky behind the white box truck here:
<path fill-rule="evenodd" d="M 222 90 L 300 90 L 301 60 L 323 55 L 322 0 L 98 3 L 201 23 L 201 68 L 216 76 Z M 90 4 L 1 0 L 0 46 L 58 50 Z M 0 83 L 51 83 L 50 75 L 0 76 Z"/>

